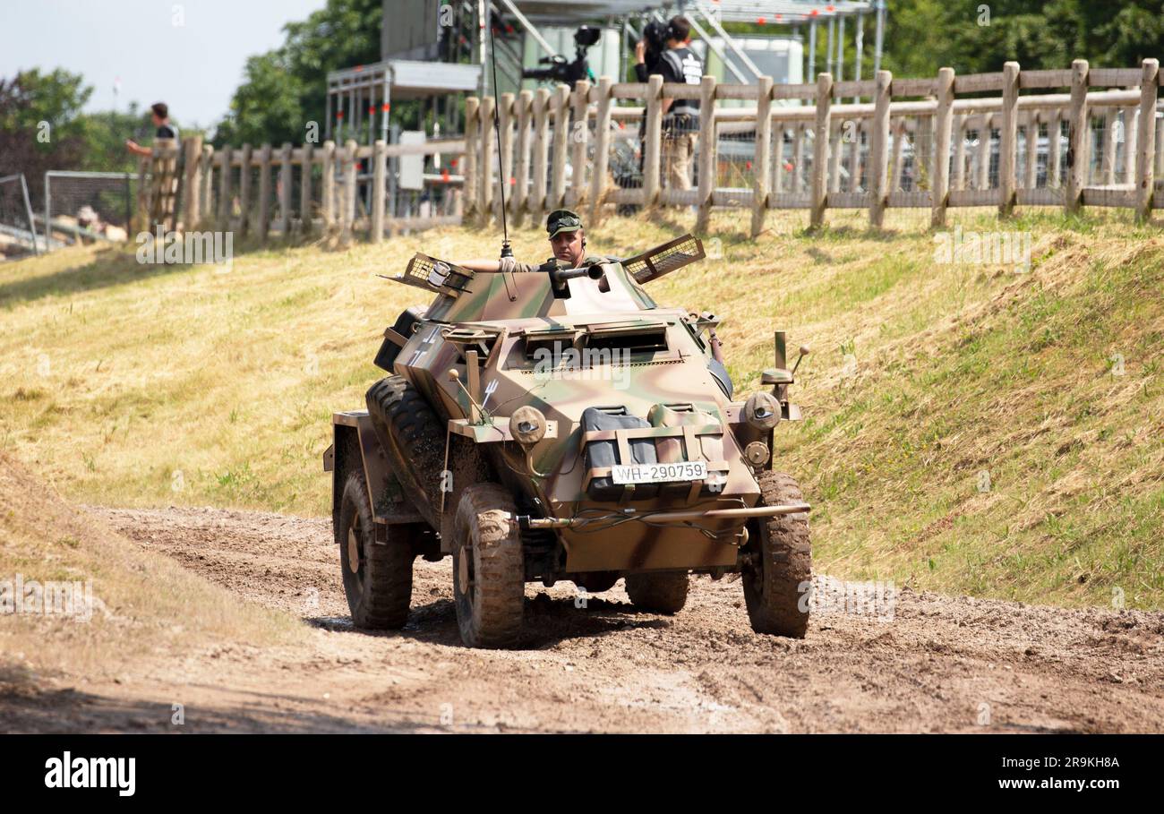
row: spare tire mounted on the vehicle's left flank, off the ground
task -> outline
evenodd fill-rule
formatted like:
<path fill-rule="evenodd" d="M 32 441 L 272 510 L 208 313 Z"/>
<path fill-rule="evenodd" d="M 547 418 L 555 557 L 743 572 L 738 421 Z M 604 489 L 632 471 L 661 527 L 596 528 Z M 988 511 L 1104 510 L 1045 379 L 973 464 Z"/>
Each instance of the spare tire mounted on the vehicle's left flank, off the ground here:
<path fill-rule="evenodd" d="M 436 512 L 445 468 L 445 430 L 436 413 L 403 376 L 385 376 L 372 384 L 367 401 L 381 445 L 385 451 L 398 450 L 409 465 L 404 472 L 393 467 L 393 473 L 417 510 L 439 531 Z M 388 458 L 392 460 L 391 454 Z"/>

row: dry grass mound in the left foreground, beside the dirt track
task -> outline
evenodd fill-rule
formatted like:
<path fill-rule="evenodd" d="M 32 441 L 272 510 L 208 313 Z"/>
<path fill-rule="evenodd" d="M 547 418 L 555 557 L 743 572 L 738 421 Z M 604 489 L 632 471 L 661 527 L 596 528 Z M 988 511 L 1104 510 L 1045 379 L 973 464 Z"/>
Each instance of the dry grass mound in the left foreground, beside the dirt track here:
<path fill-rule="evenodd" d="M 179 653 L 220 642 L 290 642 L 298 624 L 249 606 L 172 559 L 142 550 L 66 504 L 23 466 L 0 453 L 0 581 L 85 586 L 92 604 L 42 613 L 29 593 L 9 595 L 0 616 L 0 685 L 65 672 L 115 675 L 143 656 Z M 43 600 L 41 600 L 43 602 Z M 22 613 L 15 611 L 16 603 Z M 51 600 L 48 602 L 52 607 Z"/>

